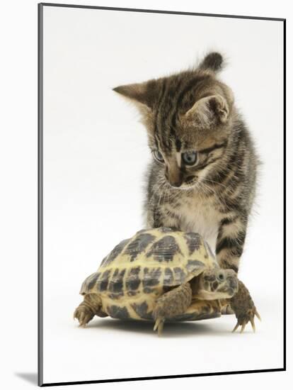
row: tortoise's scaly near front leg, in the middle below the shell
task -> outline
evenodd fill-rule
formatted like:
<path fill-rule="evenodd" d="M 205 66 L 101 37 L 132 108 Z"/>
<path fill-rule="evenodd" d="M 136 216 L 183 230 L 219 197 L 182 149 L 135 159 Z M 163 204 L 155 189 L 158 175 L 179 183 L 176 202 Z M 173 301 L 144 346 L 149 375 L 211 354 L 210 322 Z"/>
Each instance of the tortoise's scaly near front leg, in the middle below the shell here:
<path fill-rule="evenodd" d="M 153 311 L 154 320 L 156 321 L 154 330 L 158 330 L 159 335 L 162 333 L 165 319 L 184 313 L 190 306 L 192 296 L 193 291 L 189 283 L 182 284 L 160 296 Z"/>

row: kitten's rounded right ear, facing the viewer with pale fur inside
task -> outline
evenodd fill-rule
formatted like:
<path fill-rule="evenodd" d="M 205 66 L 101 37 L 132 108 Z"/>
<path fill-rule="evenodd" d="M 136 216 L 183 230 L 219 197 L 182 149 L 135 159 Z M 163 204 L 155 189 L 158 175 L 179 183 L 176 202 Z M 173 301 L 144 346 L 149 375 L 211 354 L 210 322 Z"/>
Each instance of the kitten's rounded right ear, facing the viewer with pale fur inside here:
<path fill-rule="evenodd" d="M 226 99 L 219 94 L 196 101 L 184 114 L 185 120 L 197 128 L 212 128 L 220 123 L 226 123 L 228 116 L 229 107 Z"/>

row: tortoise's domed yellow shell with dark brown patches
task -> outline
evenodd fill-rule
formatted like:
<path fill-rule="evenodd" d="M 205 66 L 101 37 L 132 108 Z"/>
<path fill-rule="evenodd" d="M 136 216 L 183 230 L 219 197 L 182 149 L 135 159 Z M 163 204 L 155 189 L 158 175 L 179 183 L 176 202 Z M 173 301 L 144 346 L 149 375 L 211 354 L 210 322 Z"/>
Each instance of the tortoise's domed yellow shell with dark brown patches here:
<path fill-rule="evenodd" d="M 115 246 L 98 271 L 86 278 L 80 294 L 98 294 L 102 311 L 110 317 L 153 320 L 159 296 L 210 267 L 217 262 L 199 234 L 173 228 L 139 230 Z M 185 314 L 169 320 L 219 316 L 216 306 L 213 301 L 195 301 Z"/>

